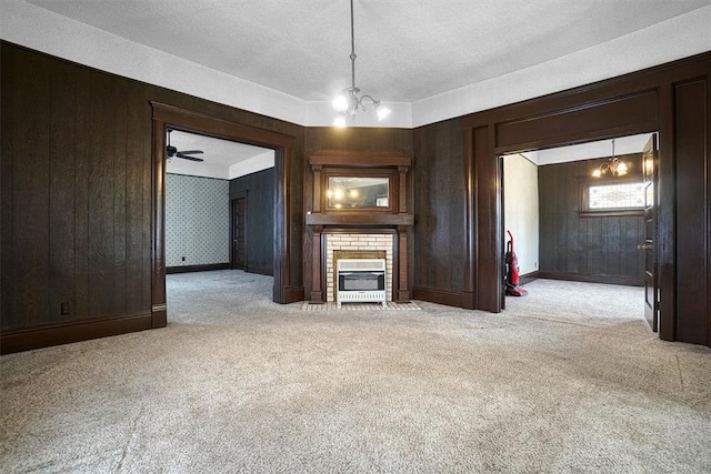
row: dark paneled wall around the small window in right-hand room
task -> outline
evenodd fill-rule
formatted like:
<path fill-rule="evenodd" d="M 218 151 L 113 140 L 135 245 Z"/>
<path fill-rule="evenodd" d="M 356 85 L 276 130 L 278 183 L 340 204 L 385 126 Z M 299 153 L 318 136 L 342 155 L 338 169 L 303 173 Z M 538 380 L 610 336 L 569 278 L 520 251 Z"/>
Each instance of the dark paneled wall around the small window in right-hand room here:
<path fill-rule="evenodd" d="M 624 160 L 640 163 L 641 155 Z M 644 254 L 637 245 L 644 241 L 643 215 L 581 216 L 579 212 L 580 179 L 605 161 L 539 167 L 542 278 L 642 285 Z"/>

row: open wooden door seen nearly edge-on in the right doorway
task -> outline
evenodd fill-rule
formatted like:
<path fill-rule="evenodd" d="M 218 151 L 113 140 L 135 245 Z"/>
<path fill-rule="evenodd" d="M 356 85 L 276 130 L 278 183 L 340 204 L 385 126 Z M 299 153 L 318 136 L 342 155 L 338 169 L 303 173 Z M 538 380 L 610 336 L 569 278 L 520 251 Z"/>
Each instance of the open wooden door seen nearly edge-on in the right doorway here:
<path fill-rule="evenodd" d="M 659 330 L 659 283 L 657 281 L 657 133 L 650 137 L 642 150 L 642 174 L 644 178 L 644 242 L 638 249 L 644 251 L 644 317 L 652 327 Z"/>

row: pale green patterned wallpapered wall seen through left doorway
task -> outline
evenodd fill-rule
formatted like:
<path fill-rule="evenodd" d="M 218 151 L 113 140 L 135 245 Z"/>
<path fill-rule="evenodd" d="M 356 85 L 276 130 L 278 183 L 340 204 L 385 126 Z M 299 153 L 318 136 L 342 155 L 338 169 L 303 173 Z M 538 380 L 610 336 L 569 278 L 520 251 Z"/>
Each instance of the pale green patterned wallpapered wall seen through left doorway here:
<path fill-rule="evenodd" d="M 227 180 L 167 174 L 166 266 L 229 263 L 229 191 Z"/>

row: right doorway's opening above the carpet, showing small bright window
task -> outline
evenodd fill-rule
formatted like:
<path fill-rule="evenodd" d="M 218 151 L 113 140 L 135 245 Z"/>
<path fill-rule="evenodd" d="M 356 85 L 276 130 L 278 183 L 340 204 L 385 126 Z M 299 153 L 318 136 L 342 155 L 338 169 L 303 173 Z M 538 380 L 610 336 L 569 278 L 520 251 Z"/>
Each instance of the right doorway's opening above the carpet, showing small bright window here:
<path fill-rule="evenodd" d="M 643 133 L 500 157 L 501 245 L 505 252 L 511 231 L 523 283 L 541 278 L 643 286 L 640 310 L 644 304 L 657 331 L 655 154 L 645 154 L 655 140 Z M 593 178 L 613 155 L 628 172 Z M 503 293 L 501 299 L 505 307 Z"/>

